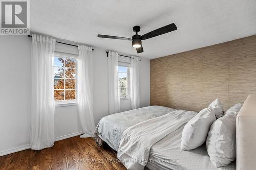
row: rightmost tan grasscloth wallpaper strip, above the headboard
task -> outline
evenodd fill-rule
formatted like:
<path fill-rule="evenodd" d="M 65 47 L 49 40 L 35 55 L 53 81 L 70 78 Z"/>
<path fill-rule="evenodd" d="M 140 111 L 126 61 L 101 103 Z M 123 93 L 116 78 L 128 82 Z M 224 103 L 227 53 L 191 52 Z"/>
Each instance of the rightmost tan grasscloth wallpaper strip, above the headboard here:
<path fill-rule="evenodd" d="M 249 93 L 256 93 L 256 36 L 229 44 L 229 100 L 243 102 Z"/>

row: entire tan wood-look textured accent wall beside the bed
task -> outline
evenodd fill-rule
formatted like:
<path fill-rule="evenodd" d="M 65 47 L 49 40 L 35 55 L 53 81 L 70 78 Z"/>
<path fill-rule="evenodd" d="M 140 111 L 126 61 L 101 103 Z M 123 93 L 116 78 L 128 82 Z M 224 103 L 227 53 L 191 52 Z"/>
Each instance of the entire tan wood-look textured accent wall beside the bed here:
<path fill-rule="evenodd" d="M 256 35 L 150 62 L 151 105 L 200 111 L 217 97 L 224 110 L 256 93 Z"/>

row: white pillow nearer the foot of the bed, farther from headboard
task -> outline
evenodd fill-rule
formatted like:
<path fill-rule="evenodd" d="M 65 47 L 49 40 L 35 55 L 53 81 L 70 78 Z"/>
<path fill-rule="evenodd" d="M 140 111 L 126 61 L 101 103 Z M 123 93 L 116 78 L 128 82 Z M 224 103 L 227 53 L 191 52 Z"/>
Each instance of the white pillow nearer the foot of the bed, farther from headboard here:
<path fill-rule="evenodd" d="M 211 124 L 214 123 L 217 116 L 221 117 L 222 115 L 223 106 L 217 98 L 208 108 L 201 110 L 185 125 L 180 148 L 189 151 L 200 147 L 206 140 Z"/>

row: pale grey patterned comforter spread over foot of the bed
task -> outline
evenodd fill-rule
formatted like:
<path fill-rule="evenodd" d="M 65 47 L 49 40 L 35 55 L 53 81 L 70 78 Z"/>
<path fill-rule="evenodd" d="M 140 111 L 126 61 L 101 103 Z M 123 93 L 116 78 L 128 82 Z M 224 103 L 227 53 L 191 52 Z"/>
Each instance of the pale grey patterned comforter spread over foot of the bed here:
<path fill-rule="evenodd" d="M 176 109 L 148 106 L 103 117 L 97 125 L 93 138 L 100 146 L 102 140 L 118 151 L 123 131 L 145 120 L 162 116 Z"/>

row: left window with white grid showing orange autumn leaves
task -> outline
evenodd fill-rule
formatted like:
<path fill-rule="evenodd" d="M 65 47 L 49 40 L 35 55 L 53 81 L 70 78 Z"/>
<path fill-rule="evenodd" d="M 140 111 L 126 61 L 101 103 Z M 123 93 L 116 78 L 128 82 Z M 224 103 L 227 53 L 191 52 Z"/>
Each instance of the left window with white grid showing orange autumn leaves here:
<path fill-rule="evenodd" d="M 76 102 L 77 59 L 54 57 L 54 100 Z"/>

